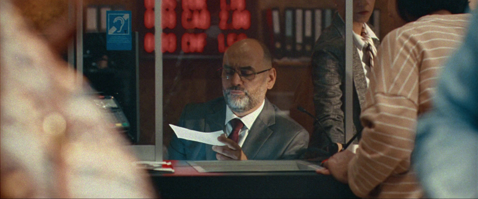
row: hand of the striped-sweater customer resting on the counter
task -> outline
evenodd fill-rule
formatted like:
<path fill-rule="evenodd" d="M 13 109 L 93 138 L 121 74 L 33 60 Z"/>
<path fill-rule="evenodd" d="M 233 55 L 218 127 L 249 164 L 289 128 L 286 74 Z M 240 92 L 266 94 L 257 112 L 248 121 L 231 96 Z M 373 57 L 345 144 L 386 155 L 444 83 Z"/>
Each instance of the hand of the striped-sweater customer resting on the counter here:
<path fill-rule="evenodd" d="M 338 152 L 324 162 L 323 167 L 317 169 L 316 172 L 324 175 L 330 175 L 339 182 L 348 184 L 348 163 L 355 154 L 349 150 Z"/>

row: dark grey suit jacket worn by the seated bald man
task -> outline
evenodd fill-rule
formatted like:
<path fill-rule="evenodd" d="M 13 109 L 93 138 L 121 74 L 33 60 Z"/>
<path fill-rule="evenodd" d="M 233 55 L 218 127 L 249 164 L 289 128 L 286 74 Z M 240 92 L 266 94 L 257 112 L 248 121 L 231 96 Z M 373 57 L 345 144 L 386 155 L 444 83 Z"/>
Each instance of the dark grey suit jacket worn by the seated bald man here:
<path fill-rule="evenodd" d="M 201 132 L 224 129 L 226 103 L 223 97 L 202 104 L 185 106 L 178 126 Z M 309 142 L 307 131 L 277 106 L 265 99 L 264 108 L 252 124 L 242 145 L 248 159 L 295 159 Z M 217 160 L 212 145 L 173 136 L 168 148 L 169 159 Z"/>

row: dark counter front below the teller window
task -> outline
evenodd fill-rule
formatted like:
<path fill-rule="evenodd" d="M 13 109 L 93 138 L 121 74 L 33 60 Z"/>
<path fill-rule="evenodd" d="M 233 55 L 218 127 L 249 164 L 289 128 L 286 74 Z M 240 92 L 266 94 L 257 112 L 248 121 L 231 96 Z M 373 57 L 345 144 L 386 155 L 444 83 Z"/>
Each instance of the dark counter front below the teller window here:
<path fill-rule="evenodd" d="M 161 198 L 357 198 L 348 185 L 314 171 L 199 173 L 185 161 L 151 171 Z"/>

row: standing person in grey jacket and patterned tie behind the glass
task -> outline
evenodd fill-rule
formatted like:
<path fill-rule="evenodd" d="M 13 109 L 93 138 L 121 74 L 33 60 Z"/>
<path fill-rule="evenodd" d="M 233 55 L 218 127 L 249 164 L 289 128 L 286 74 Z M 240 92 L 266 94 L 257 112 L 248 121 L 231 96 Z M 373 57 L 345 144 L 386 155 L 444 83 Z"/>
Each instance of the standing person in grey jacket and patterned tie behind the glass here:
<path fill-rule="evenodd" d="M 336 0 L 330 26 L 315 43 L 312 56 L 314 105 L 318 118 L 311 137 L 311 147 L 333 154 L 351 139 L 346 138 L 347 111 L 352 111 L 353 135 L 360 135 L 360 110 L 365 105 L 370 67 L 377 53 L 379 39 L 369 22 L 376 22 L 380 11 L 374 10 L 375 0 L 354 0 L 352 16 L 352 64 L 346 64 L 346 9 L 345 0 Z M 373 19 L 370 18 L 374 16 Z M 378 29 L 375 29 L 378 30 Z M 347 72 L 351 68 L 350 73 Z M 350 77 L 351 75 L 351 77 Z M 347 96 L 347 80 L 353 81 L 353 97 Z M 351 86 L 352 84 L 350 84 Z M 346 110 L 347 99 L 352 99 L 352 110 Z"/>

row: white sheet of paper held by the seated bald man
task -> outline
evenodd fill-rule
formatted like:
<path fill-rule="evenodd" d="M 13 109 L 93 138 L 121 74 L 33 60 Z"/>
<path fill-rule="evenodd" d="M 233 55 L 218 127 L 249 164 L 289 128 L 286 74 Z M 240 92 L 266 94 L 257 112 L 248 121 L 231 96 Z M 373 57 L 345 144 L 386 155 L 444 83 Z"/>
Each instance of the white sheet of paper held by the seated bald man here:
<path fill-rule="evenodd" d="M 169 125 L 176 133 L 178 138 L 187 139 L 196 142 L 202 142 L 208 145 L 216 145 L 216 146 L 224 146 L 222 142 L 217 141 L 217 137 L 224 133 L 224 131 L 216 131 L 216 132 L 199 132 L 195 130 L 190 130 L 187 128 Z"/>

